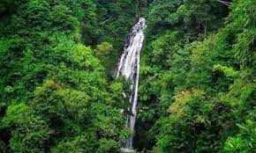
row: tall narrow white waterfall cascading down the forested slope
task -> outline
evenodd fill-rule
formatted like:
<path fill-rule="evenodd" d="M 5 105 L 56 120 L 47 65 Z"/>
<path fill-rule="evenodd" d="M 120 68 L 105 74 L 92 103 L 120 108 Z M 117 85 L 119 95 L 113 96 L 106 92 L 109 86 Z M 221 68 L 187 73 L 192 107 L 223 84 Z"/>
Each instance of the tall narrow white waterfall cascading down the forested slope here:
<path fill-rule="evenodd" d="M 139 22 L 132 27 L 129 33 L 129 39 L 124 46 L 124 53 L 121 56 L 117 76 L 125 76 L 126 79 L 132 80 L 132 94 L 130 96 L 132 115 L 127 116 L 126 126 L 130 127 L 132 133 L 134 131 L 135 119 L 137 114 L 137 99 L 139 86 L 139 57 L 142 43 L 144 40 L 143 30 L 146 27 L 145 18 L 139 18 Z M 124 93 L 125 96 L 125 93 Z M 132 137 L 128 138 L 126 142 L 121 143 L 123 152 L 130 152 L 132 150 Z"/>

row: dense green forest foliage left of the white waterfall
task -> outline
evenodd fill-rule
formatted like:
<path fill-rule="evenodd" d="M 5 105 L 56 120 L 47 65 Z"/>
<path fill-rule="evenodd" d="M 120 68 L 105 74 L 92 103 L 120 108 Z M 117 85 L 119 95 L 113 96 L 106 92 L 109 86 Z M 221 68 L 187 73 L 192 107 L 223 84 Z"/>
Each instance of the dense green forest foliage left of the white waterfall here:
<path fill-rule="evenodd" d="M 124 84 L 108 77 L 135 7 L 1 1 L 0 152 L 120 152 Z"/>

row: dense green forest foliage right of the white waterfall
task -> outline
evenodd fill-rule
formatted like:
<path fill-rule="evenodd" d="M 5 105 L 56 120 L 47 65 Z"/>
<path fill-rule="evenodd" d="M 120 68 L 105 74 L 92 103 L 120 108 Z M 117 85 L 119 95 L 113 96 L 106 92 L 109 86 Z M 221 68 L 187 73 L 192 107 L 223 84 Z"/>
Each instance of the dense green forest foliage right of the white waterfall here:
<path fill-rule="evenodd" d="M 256 151 L 255 6 L 242 0 L 229 8 L 215 0 L 150 4 L 137 148 Z"/>

